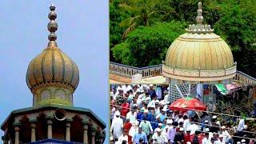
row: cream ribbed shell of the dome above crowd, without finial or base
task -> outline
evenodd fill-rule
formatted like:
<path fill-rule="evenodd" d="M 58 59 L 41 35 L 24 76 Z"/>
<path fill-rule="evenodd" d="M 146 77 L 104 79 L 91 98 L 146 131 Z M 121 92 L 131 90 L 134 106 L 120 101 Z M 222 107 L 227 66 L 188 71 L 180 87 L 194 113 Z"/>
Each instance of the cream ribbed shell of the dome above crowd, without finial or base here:
<path fill-rule="evenodd" d="M 186 33 L 170 45 L 165 64 L 183 70 L 223 70 L 234 66 L 234 58 L 218 35 Z"/>

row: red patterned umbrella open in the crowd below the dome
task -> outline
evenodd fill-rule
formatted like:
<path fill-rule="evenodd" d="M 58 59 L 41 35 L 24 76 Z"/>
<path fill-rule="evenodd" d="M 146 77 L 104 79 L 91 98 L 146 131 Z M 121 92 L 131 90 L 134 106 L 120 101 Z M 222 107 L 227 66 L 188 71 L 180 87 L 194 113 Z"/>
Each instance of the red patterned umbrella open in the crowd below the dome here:
<path fill-rule="evenodd" d="M 180 98 L 169 106 L 170 110 L 206 110 L 206 106 L 197 98 Z"/>

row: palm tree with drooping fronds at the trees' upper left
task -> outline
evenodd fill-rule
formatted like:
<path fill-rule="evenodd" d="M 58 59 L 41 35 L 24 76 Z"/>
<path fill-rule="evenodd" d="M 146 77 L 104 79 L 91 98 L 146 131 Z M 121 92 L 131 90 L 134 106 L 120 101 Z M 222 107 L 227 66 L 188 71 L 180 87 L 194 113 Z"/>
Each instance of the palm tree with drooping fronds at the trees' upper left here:
<path fill-rule="evenodd" d="M 122 10 L 126 10 L 130 14 L 130 18 L 120 22 L 120 26 L 127 27 L 122 38 L 125 38 L 130 31 L 138 26 L 150 26 L 150 18 L 160 11 L 155 9 L 158 2 L 160 0 L 130 0 L 119 4 Z"/>

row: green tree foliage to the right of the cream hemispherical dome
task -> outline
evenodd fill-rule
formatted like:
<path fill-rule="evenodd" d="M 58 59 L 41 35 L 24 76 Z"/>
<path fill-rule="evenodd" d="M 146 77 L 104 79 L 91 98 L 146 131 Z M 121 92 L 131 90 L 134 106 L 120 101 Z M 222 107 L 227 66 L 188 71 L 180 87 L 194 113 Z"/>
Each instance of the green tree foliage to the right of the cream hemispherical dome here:
<path fill-rule="evenodd" d="M 230 45 L 238 70 L 256 77 L 256 2 L 222 2 L 221 16 L 214 28 Z"/>

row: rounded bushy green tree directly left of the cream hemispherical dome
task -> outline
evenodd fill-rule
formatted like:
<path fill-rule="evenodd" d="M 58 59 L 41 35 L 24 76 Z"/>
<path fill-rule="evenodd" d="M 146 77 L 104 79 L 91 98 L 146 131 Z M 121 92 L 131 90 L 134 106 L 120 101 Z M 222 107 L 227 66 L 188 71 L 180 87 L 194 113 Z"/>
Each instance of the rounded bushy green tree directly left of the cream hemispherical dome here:
<path fill-rule="evenodd" d="M 114 46 L 114 58 L 130 66 L 152 66 L 162 63 L 175 38 L 185 32 L 185 22 L 159 22 L 139 26 L 127 35 L 126 41 Z"/>

